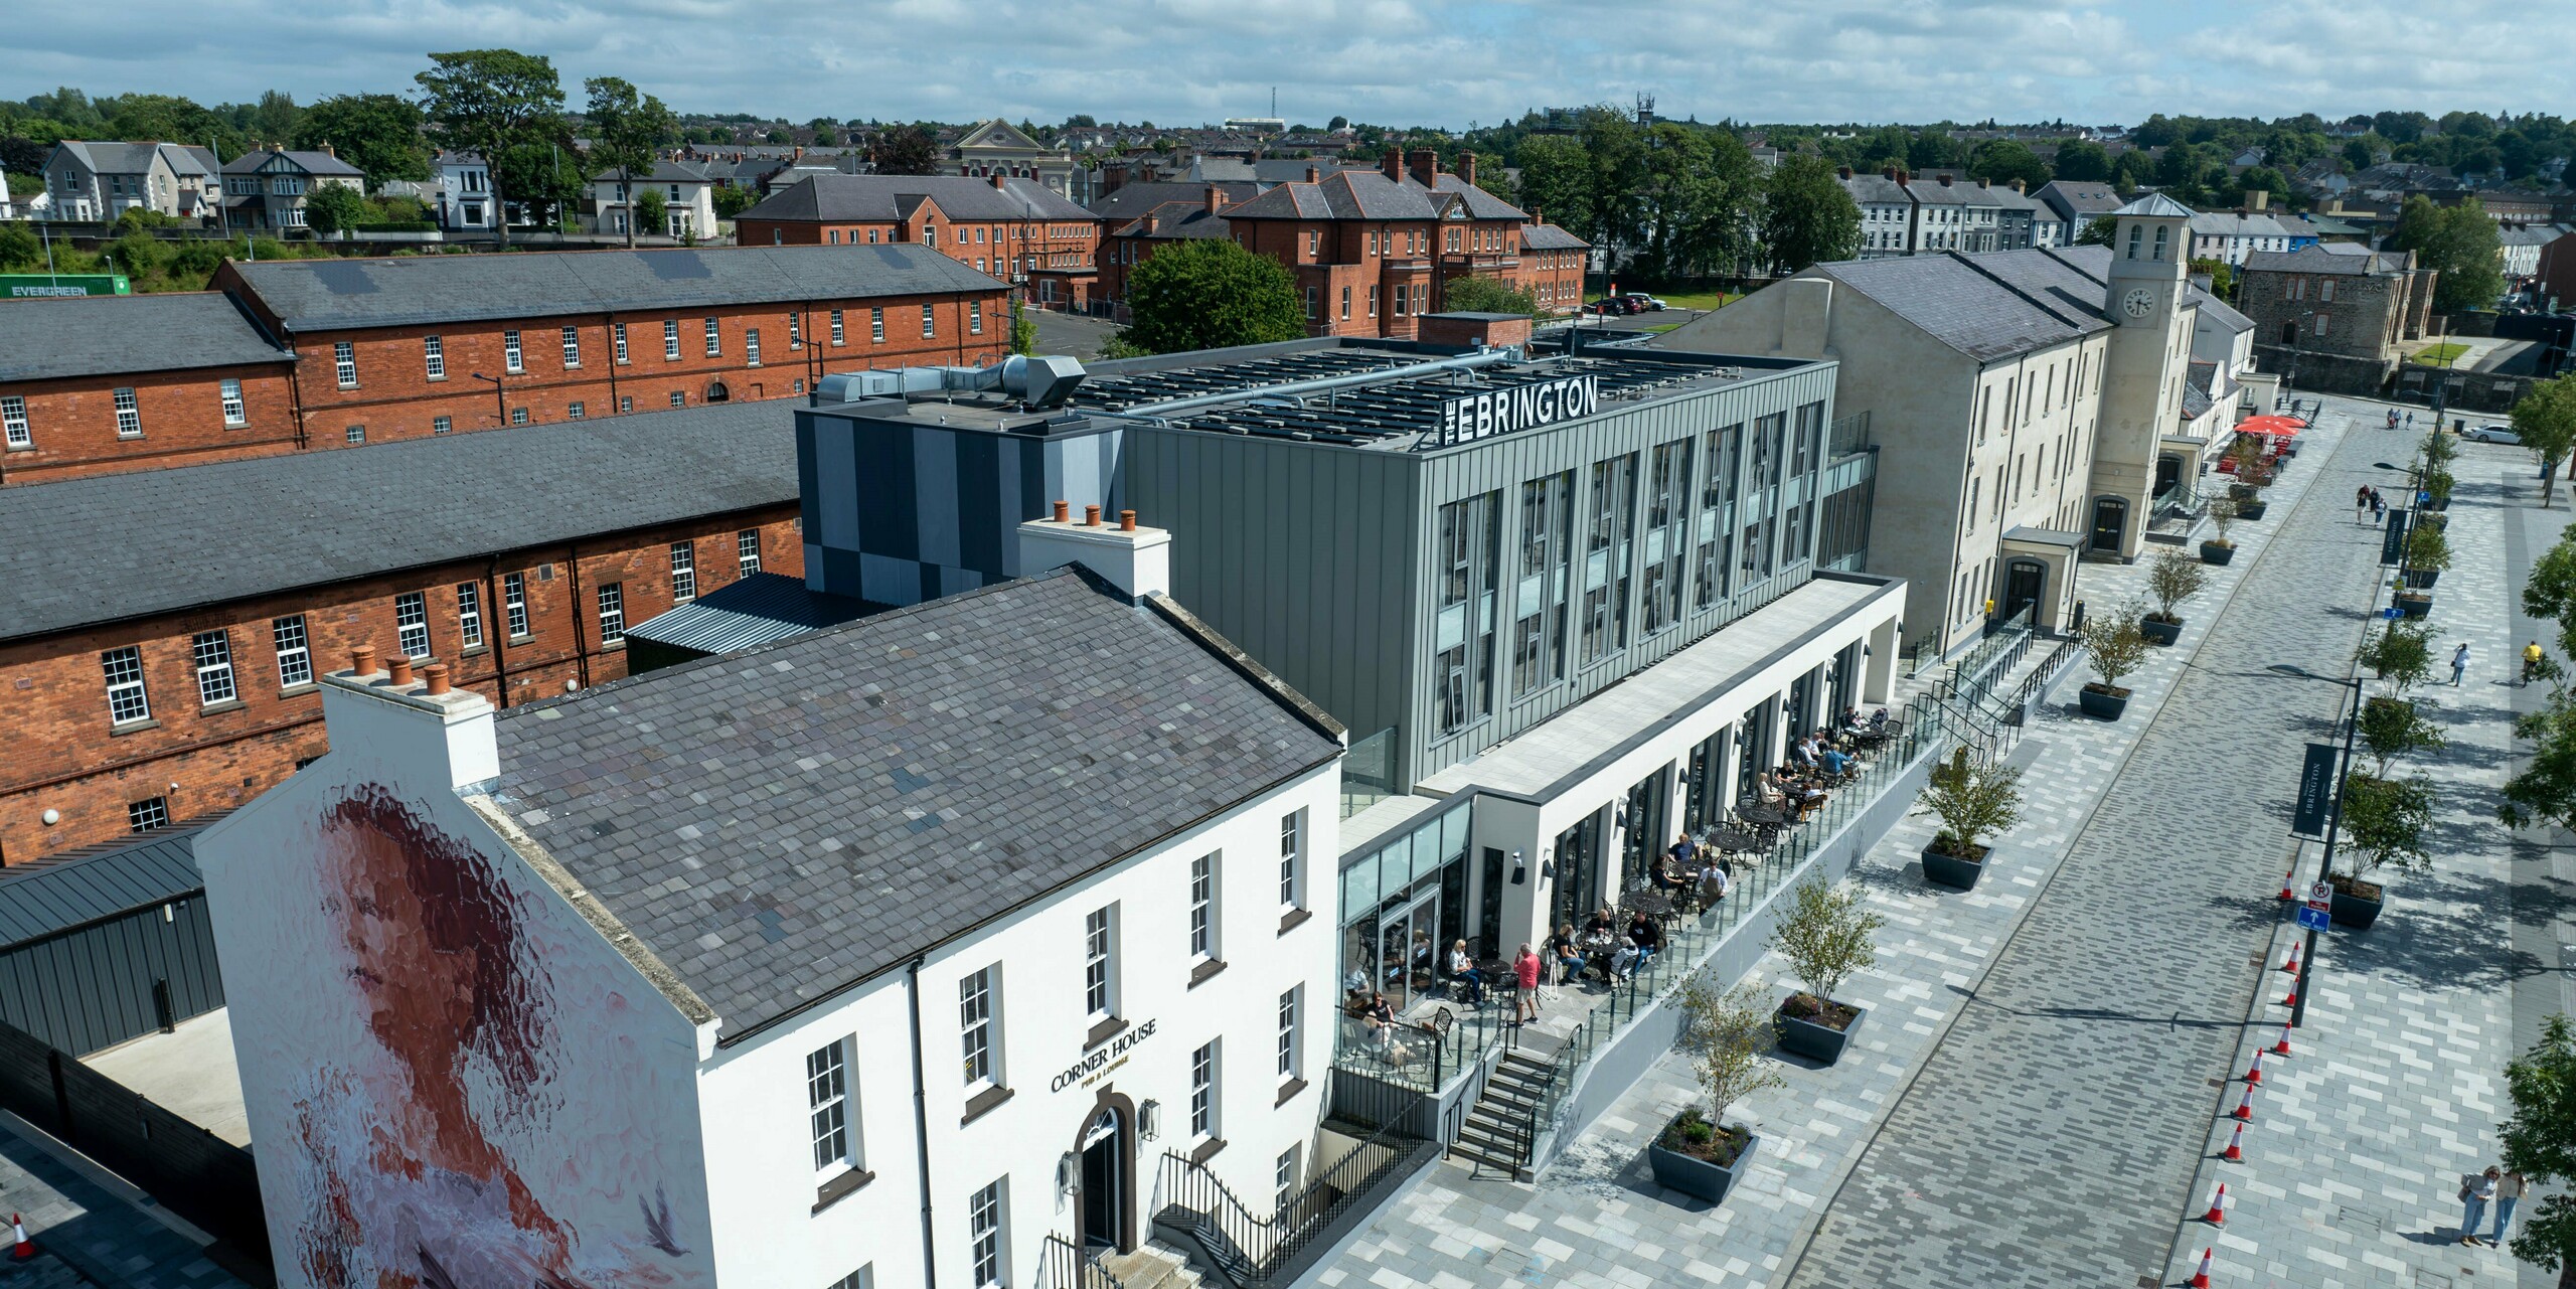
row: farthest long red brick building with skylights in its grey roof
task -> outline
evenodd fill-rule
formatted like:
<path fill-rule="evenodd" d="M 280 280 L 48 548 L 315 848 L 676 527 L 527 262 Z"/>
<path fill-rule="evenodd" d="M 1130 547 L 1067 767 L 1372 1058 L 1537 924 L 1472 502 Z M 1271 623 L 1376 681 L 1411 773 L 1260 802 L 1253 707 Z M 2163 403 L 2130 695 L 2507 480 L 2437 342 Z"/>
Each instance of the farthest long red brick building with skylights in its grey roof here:
<path fill-rule="evenodd" d="M 925 247 L 227 263 L 301 361 L 307 446 L 796 397 L 829 371 L 992 363 L 1002 284 Z"/>

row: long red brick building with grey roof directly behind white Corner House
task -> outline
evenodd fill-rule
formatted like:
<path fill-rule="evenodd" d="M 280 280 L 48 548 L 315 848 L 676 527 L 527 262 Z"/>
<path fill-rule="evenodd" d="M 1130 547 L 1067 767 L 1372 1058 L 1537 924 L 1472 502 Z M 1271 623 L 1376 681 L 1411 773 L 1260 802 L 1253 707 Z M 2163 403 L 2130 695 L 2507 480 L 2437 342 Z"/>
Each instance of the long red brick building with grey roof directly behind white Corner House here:
<path fill-rule="evenodd" d="M 505 706 L 616 681 L 626 626 L 801 577 L 796 513 L 757 405 L 5 490 L 0 864 L 247 802 L 325 753 L 353 644 Z"/>

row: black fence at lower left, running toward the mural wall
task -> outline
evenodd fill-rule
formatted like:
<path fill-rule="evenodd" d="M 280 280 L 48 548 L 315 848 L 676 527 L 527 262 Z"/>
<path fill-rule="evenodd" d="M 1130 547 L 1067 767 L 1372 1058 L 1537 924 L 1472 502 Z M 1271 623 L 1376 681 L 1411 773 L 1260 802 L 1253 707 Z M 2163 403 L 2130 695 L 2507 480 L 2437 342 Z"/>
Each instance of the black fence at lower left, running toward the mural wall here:
<path fill-rule="evenodd" d="M 268 1261 L 260 1170 L 247 1150 L 10 1026 L 0 1026 L 0 1109 L 149 1191 L 242 1255 Z"/>

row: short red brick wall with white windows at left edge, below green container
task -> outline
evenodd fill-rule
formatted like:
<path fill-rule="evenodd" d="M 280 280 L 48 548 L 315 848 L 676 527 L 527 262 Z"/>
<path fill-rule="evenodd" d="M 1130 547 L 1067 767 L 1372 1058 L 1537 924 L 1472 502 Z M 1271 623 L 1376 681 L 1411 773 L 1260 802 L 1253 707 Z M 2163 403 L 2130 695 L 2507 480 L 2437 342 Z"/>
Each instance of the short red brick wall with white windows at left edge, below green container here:
<path fill-rule="evenodd" d="M 0 482 L 70 480 L 118 469 L 229 461 L 291 451 L 289 363 L 5 382 L 26 400 L 28 446 L 0 451 Z M 242 382 L 242 418 L 224 418 L 224 382 Z M 116 433 L 116 389 L 134 389 L 142 433 Z"/>

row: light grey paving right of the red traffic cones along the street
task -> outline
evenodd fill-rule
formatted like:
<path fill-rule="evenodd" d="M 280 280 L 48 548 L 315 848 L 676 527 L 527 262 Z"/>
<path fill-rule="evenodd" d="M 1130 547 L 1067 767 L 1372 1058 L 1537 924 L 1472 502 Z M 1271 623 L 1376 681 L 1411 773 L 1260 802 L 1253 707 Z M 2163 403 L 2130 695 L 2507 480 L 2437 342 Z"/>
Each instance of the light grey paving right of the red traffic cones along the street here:
<path fill-rule="evenodd" d="M 2506 936 L 2512 846 L 2494 812 L 2512 753 L 2512 706 L 2522 696 L 2514 688 L 2522 639 L 2509 634 L 2514 598 L 2530 554 L 2548 549 L 2576 516 L 2537 510 L 2522 451 L 2463 443 L 2452 472 L 2460 480 L 2447 526 L 2452 570 L 2432 614 L 2437 681 L 2414 691 L 2434 709 L 2450 748 L 2398 771 L 2434 781 L 2434 871 L 2378 874 L 2388 877 L 2380 923 L 2324 936 L 2293 1057 L 2264 1065 L 2244 1163 L 2215 1158 L 2233 1119 L 2208 1124 L 2210 1160 L 2192 1199 L 2205 1209 L 2208 1191 L 2226 1181 L 2226 1227 L 2187 1222 L 2166 1281 L 2187 1279 L 2205 1248 L 2215 1248 L 2213 1284 L 2411 1289 L 2517 1279 L 2504 1250 L 2458 1243 L 2455 1194 L 2460 1173 L 2496 1163 L 2496 1124 L 2512 1111 L 2504 1062 L 2514 1057 L 2514 980 L 2553 967 Z M 2530 531 L 2512 559 L 2506 526 Z M 2447 660 L 2463 639 L 2473 665 L 2452 688 Z M 2349 869 L 2349 851 L 2336 853 L 2336 866 Z M 2293 938 L 2295 928 L 2280 926 L 2275 964 Z M 2251 1049 L 2277 1036 L 2285 1008 L 2269 1003 L 2287 980 L 2269 974 L 2231 1070 L 2244 1072 Z M 2481 1235 L 2491 1230 L 2494 1212 Z M 2553 1276 L 2524 1268 L 2524 1279 Z"/>

